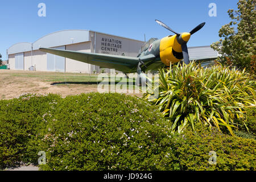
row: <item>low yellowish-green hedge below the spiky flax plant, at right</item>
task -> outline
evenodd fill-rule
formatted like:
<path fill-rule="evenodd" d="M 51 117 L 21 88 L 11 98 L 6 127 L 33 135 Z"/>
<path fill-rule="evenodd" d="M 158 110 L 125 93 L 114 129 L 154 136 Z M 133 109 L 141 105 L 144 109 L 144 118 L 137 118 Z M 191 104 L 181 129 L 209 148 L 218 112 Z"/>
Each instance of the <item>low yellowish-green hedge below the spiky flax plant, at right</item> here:
<path fill-rule="evenodd" d="M 169 158 L 162 169 L 172 170 L 255 170 L 255 139 L 232 137 L 197 125 L 195 131 L 185 130 L 166 140 Z M 210 151 L 216 152 L 216 164 L 210 164 Z"/>

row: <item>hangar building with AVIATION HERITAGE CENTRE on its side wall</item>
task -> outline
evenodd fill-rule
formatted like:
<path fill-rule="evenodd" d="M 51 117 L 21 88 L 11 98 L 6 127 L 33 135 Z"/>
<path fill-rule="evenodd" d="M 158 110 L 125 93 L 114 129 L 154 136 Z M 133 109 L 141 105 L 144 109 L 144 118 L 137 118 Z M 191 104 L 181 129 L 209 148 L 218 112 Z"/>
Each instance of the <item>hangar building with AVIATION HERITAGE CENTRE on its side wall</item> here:
<path fill-rule="evenodd" d="M 9 68 L 52 72 L 100 72 L 100 67 L 39 51 L 39 48 L 57 48 L 71 51 L 106 53 L 136 57 L 144 42 L 89 30 L 57 31 L 34 43 L 17 43 L 7 49 Z M 188 48 L 191 57 L 212 56 L 217 52 L 209 46 Z M 109 72 L 106 69 L 105 72 Z"/>

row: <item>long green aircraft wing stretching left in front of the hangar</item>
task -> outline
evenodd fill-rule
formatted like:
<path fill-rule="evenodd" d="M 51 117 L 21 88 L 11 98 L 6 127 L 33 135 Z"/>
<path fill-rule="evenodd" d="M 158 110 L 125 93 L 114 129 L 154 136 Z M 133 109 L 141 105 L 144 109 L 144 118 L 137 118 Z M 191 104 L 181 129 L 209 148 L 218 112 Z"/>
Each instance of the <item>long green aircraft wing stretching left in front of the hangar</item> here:
<path fill-rule="evenodd" d="M 116 69 L 123 73 L 136 72 L 137 66 L 139 64 L 139 59 L 141 59 L 143 62 L 152 61 L 155 59 L 154 55 L 147 55 L 143 57 L 129 57 L 50 48 L 40 48 L 40 51 L 52 53 L 53 55 L 57 56 L 67 57 L 69 59 L 81 61 L 84 63 L 97 65 L 101 68 Z"/>

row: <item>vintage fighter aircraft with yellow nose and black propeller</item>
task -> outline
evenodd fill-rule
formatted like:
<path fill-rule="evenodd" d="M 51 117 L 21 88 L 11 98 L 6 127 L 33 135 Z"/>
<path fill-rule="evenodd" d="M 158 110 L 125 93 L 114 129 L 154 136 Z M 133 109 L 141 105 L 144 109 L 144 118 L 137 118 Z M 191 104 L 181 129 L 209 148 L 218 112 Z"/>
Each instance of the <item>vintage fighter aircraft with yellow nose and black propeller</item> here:
<path fill-rule="evenodd" d="M 142 50 L 137 57 L 106 55 L 102 53 L 89 53 L 79 51 L 68 51 L 50 48 L 40 48 L 40 51 L 52 53 L 53 55 L 68 57 L 69 59 L 98 65 L 101 68 L 116 69 L 123 73 L 138 73 L 140 83 L 146 82 L 148 70 L 156 70 L 159 67 L 171 63 L 177 63 L 184 59 L 185 64 L 189 64 L 187 42 L 191 35 L 203 28 L 205 23 L 199 24 L 191 32 L 177 33 L 163 22 L 155 20 L 158 24 L 167 28 L 175 35 L 167 36 L 159 40 L 150 40 L 142 46 Z"/>

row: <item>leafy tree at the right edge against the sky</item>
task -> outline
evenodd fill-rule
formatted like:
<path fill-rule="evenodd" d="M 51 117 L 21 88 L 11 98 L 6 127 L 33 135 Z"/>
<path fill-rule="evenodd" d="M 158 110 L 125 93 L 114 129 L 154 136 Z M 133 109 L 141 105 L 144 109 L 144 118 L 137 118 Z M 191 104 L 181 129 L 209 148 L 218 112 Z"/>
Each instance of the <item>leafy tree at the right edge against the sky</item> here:
<path fill-rule="evenodd" d="M 220 40 L 211 45 L 224 64 L 235 65 L 251 73 L 256 72 L 256 0 L 239 0 L 238 10 L 228 10 L 232 21 L 221 27 Z"/>

